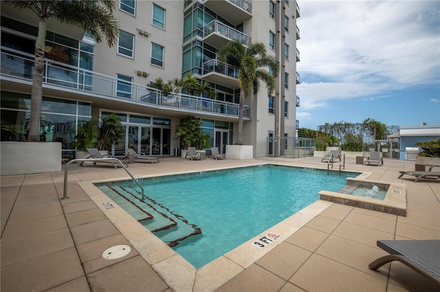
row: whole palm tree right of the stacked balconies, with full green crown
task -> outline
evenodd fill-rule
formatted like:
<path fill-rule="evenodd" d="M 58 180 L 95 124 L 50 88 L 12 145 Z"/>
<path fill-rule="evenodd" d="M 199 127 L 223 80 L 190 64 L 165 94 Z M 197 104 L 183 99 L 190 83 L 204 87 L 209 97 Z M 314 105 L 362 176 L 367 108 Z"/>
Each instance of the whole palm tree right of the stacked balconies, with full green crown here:
<path fill-rule="evenodd" d="M 265 82 L 267 95 L 270 96 L 276 88 L 276 77 L 280 63 L 274 56 L 267 55 L 266 47 L 262 42 L 255 42 L 245 47 L 238 40 L 231 40 L 218 51 L 220 62 L 228 63 L 238 68 L 240 101 L 239 101 L 239 130 L 236 144 L 243 145 L 243 110 L 245 97 L 248 97 L 253 88 L 254 95 L 258 93 L 260 80 Z M 265 70 L 269 66 L 273 75 Z"/>

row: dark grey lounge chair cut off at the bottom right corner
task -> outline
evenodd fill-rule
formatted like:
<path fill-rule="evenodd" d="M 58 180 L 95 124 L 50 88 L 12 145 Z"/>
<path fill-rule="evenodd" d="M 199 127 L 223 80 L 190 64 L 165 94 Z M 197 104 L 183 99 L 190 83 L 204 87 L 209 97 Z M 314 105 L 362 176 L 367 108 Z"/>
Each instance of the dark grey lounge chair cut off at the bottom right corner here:
<path fill-rule="evenodd" d="M 440 240 L 377 241 L 377 246 L 389 255 L 374 260 L 369 265 L 370 269 L 379 269 L 386 263 L 398 260 L 440 284 Z"/>

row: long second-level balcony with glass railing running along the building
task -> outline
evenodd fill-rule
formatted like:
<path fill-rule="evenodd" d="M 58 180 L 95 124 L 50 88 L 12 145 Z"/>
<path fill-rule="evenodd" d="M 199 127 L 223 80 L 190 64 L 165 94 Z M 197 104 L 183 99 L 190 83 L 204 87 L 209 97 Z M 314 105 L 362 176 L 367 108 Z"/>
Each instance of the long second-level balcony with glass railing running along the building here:
<path fill-rule="evenodd" d="M 23 89 L 23 85 L 28 85 L 30 91 L 33 69 L 34 56 L 1 47 L 2 90 L 18 90 Z M 138 106 L 141 105 L 168 114 L 197 112 L 234 119 L 239 115 L 239 104 L 181 93 L 164 96 L 155 88 L 51 60 L 45 60 L 43 89 L 46 93 L 50 92 L 58 97 L 93 101 L 96 106 L 105 106 L 109 102 L 117 101 L 123 102 L 124 106 L 130 107 L 131 110 L 139 110 Z M 244 117 L 250 118 L 249 106 L 245 106 Z"/>

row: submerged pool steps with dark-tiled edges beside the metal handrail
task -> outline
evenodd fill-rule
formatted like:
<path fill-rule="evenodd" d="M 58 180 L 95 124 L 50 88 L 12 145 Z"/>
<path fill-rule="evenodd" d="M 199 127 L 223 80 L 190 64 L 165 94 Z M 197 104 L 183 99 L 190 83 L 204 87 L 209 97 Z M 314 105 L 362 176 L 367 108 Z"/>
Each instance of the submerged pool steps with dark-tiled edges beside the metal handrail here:
<path fill-rule="evenodd" d="M 201 234 L 201 229 L 188 222 L 181 215 L 144 196 L 131 186 L 115 186 L 111 184 L 101 185 L 101 191 L 106 193 L 122 209 L 128 210 L 145 228 L 153 232 L 159 239 L 170 247 L 179 243 L 190 243 Z M 190 238 L 193 238 L 190 240 Z"/>

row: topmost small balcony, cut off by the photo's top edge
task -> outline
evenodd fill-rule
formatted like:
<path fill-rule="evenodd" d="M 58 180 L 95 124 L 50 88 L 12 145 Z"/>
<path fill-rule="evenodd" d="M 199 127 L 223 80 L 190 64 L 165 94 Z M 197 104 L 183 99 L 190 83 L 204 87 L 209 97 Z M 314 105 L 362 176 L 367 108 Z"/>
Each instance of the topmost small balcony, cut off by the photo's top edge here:
<path fill-rule="evenodd" d="M 206 8 L 219 14 L 223 19 L 239 25 L 246 19 L 252 17 L 252 4 L 245 0 L 205 0 L 203 2 Z"/>

